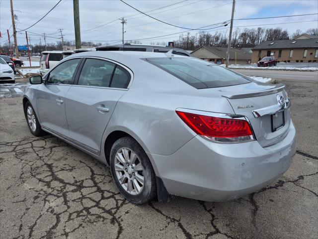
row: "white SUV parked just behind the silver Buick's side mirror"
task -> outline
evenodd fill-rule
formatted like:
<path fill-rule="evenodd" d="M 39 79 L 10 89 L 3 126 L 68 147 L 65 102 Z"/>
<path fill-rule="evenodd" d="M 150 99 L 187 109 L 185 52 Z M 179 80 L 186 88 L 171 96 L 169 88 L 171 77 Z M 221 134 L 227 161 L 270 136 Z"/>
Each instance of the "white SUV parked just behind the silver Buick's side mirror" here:
<path fill-rule="evenodd" d="M 44 76 L 63 59 L 63 51 L 42 51 L 40 58 L 40 74 Z"/>

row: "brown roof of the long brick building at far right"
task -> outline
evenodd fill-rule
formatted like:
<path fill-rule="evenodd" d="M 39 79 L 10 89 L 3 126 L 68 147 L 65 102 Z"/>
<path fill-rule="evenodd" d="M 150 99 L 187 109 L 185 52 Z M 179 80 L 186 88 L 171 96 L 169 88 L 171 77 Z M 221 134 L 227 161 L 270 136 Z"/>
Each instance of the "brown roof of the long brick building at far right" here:
<path fill-rule="evenodd" d="M 318 39 L 263 41 L 253 49 L 318 48 Z"/>

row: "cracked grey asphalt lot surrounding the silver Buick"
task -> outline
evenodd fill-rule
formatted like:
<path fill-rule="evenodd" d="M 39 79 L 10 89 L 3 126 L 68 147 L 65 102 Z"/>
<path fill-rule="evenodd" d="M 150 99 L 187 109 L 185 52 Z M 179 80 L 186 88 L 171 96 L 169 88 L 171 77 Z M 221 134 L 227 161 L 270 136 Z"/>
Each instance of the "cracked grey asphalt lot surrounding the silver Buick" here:
<path fill-rule="evenodd" d="M 21 97 L 0 99 L 0 238 L 317 239 L 318 84 L 283 83 L 298 133 L 291 168 L 223 203 L 133 205 L 105 165 L 52 135 L 32 136 Z"/>

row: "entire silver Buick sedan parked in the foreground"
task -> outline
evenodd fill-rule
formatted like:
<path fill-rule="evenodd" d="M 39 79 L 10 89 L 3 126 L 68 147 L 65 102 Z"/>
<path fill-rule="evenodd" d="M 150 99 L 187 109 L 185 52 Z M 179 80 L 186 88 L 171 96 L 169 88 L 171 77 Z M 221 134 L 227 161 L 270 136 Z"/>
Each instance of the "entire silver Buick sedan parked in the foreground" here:
<path fill-rule="evenodd" d="M 295 154 L 284 85 L 171 51 L 82 52 L 30 83 L 31 133 L 51 133 L 107 164 L 135 204 L 237 199 L 277 179 Z"/>

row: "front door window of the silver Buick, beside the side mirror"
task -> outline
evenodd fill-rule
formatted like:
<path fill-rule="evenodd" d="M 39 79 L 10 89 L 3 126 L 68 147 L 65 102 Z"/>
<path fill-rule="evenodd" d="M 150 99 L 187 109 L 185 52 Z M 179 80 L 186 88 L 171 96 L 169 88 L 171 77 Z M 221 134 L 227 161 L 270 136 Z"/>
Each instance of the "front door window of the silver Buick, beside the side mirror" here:
<path fill-rule="evenodd" d="M 49 75 L 48 83 L 73 84 L 73 75 L 80 59 L 69 60 L 55 67 Z"/>

